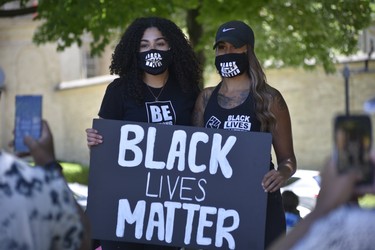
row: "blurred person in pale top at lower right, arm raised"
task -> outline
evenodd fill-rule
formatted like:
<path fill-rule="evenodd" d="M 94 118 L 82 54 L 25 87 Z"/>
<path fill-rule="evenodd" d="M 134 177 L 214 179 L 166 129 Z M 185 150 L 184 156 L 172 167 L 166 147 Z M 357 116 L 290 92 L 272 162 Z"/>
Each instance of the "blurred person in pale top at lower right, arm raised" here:
<path fill-rule="evenodd" d="M 375 168 L 374 153 L 372 166 Z M 356 183 L 361 178 L 358 169 L 339 174 L 336 163 L 331 160 L 322 171 L 314 210 L 269 249 L 374 249 L 375 209 L 361 208 L 353 197 L 375 194 L 375 183 L 358 186 Z"/>

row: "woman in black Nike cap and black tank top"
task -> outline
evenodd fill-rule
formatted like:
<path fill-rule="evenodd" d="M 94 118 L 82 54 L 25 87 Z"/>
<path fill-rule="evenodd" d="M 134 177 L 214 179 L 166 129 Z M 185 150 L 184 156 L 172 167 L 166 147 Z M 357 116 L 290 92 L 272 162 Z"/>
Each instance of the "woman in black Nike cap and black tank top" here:
<path fill-rule="evenodd" d="M 272 134 L 277 169 L 271 161 L 270 171 L 261 183 L 268 192 L 267 247 L 286 230 L 280 187 L 297 167 L 288 107 L 281 93 L 267 84 L 265 73 L 254 53 L 254 33 L 247 24 L 230 21 L 221 25 L 216 33 L 214 49 L 215 65 L 222 81 L 216 87 L 201 92 L 195 105 L 193 122 L 206 128 Z M 246 119 L 226 123 L 228 118 L 233 117 Z"/>

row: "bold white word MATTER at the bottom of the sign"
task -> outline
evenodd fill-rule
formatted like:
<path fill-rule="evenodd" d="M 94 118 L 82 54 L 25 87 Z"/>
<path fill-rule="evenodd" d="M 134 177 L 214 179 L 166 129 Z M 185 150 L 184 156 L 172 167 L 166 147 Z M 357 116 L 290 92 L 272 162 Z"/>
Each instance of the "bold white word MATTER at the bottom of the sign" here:
<path fill-rule="evenodd" d="M 166 210 L 164 209 L 166 208 Z M 180 211 L 181 210 L 181 211 Z M 232 235 L 240 224 L 240 216 L 236 210 L 200 206 L 197 204 L 180 203 L 166 201 L 164 203 L 151 202 L 147 206 L 144 200 L 139 200 L 131 210 L 129 201 L 121 199 L 118 203 L 116 236 L 124 237 L 127 224 L 135 223 L 134 236 L 137 239 L 144 237 L 152 240 L 156 235 L 159 241 L 171 243 L 173 240 L 174 218 L 177 211 L 183 212 L 185 219 L 184 243 L 191 244 L 193 221 L 198 213 L 198 228 L 196 232 L 196 244 L 200 246 L 211 245 L 215 242 L 215 247 L 222 247 L 226 240 L 229 249 L 235 249 L 236 242 Z M 143 223 L 149 214 L 147 227 L 143 228 Z M 210 216 L 208 216 L 210 215 Z M 208 219 L 211 218 L 211 220 Z M 224 221 L 232 221 L 231 225 L 224 226 Z M 226 223 L 228 224 L 228 223 Z M 205 234 L 205 228 L 214 228 L 214 239 Z M 145 236 L 144 236 L 145 235 Z"/>

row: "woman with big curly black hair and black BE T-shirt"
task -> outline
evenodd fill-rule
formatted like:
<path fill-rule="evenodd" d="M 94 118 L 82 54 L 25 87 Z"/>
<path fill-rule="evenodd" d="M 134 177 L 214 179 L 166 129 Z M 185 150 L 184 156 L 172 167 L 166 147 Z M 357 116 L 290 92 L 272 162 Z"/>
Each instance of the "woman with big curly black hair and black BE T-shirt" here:
<path fill-rule="evenodd" d="M 133 21 L 112 55 L 111 74 L 99 117 L 168 125 L 191 125 L 202 71 L 180 28 L 170 20 L 144 17 Z M 87 145 L 103 142 L 88 128 Z M 107 249 L 169 249 L 168 247 L 101 241 Z M 172 248 L 173 249 L 173 248 Z"/>

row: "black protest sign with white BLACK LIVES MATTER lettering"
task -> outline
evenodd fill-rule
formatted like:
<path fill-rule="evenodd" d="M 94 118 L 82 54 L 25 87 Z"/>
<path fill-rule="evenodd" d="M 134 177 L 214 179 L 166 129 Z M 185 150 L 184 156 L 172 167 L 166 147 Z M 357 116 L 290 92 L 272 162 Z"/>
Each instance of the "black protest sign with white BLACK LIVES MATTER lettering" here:
<path fill-rule="evenodd" d="M 95 119 L 87 213 L 95 239 L 263 249 L 268 133 Z"/>

